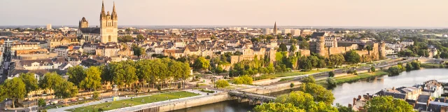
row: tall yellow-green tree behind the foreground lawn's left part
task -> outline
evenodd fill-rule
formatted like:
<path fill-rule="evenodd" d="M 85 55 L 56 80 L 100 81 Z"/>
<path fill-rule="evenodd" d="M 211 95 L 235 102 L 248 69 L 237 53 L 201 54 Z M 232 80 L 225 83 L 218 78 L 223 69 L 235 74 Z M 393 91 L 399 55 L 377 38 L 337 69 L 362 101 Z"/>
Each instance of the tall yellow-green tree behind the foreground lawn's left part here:
<path fill-rule="evenodd" d="M 97 66 L 90 66 L 85 70 L 87 76 L 79 84 L 81 88 L 97 90 L 101 87 L 101 73 L 102 71 Z"/>

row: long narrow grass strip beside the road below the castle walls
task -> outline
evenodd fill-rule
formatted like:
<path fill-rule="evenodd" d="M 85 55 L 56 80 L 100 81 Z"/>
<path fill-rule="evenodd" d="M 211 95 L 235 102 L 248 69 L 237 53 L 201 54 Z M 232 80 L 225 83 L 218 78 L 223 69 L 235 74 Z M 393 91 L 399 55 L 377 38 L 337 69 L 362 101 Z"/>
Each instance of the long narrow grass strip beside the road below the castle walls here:
<path fill-rule="evenodd" d="M 318 70 L 311 70 L 311 71 L 292 71 L 292 72 L 286 72 L 286 73 L 274 73 L 274 74 L 263 74 L 259 77 L 256 77 L 255 80 L 262 80 L 267 78 L 279 78 L 279 77 L 286 77 L 286 76 L 301 76 L 305 74 L 310 73 L 318 73 L 318 72 L 325 72 L 325 71 L 332 71 L 334 69 L 318 69 Z"/>

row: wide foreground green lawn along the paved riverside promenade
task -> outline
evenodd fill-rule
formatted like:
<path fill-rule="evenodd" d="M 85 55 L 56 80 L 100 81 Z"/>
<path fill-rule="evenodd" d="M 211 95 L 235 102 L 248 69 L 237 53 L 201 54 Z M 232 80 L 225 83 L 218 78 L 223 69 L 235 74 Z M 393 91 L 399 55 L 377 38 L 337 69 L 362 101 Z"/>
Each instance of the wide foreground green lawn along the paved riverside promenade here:
<path fill-rule="evenodd" d="M 153 94 L 153 95 L 147 96 L 147 97 L 137 97 L 134 99 L 125 99 L 125 100 L 119 100 L 119 101 L 114 101 L 114 102 L 107 102 L 107 103 L 102 103 L 102 104 L 83 106 L 83 107 L 78 107 L 74 110 L 69 109 L 69 110 L 65 110 L 65 111 L 81 112 L 81 111 L 93 111 L 93 109 L 96 109 L 96 111 L 98 111 L 98 109 L 100 109 L 100 108 L 102 108 L 104 111 L 109 111 L 109 110 L 118 109 L 118 108 L 127 107 L 127 106 L 137 106 L 137 105 L 148 104 L 148 103 L 152 103 L 152 102 L 161 102 L 161 101 L 165 101 L 168 99 L 179 99 L 179 98 L 183 98 L 183 97 L 193 97 L 193 96 L 197 96 L 197 95 L 199 95 L 199 94 L 195 94 L 192 92 L 184 92 L 184 91 L 164 93 L 164 94 Z M 142 101 L 144 101 L 144 102 L 142 102 Z M 108 105 L 109 105 L 109 107 L 107 107 Z"/>

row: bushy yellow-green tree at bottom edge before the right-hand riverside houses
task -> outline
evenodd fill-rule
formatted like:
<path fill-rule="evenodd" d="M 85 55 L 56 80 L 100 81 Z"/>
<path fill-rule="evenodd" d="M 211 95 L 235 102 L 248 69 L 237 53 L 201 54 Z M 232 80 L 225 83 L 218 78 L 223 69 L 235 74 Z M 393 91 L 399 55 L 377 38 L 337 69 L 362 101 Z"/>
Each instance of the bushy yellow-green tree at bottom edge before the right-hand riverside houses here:
<path fill-rule="evenodd" d="M 368 112 L 388 111 L 388 112 L 401 112 L 401 111 L 414 111 L 413 107 L 402 99 L 394 99 L 393 97 L 373 97 L 370 101 L 367 101 L 364 109 Z"/>

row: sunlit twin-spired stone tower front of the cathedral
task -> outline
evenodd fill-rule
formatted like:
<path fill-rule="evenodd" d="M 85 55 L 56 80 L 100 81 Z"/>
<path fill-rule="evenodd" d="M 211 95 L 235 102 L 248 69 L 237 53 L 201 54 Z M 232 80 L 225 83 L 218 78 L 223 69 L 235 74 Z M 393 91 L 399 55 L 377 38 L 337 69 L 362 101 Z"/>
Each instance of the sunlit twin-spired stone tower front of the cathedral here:
<path fill-rule="evenodd" d="M 104 1 L 102 10 L 99 15 L 99 36 L 102 43 L 118 42 L 118 16 L 115 10 L 115 2 L 113 2 L 112 14 L 104 11 Z"/>

